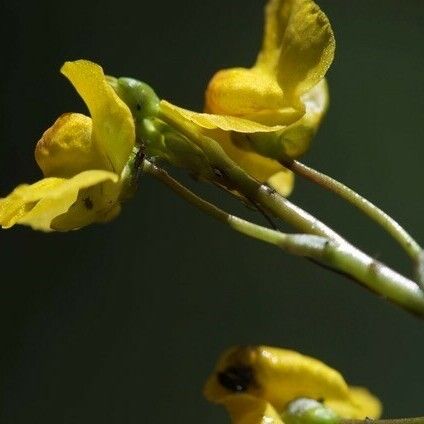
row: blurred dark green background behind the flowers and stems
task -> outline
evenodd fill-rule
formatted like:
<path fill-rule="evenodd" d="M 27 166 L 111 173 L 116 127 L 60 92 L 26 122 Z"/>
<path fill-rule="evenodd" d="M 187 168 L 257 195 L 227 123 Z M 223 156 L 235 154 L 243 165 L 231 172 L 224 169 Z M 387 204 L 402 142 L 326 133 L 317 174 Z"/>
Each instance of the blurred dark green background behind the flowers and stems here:
<path fill-rule="evenodd" d="M 35 142 L 61 113 L 85 111 L 59 75 L 65 60 L 92 59 L 200 109 L 215 70 L 253 62 L 263 4 L 3 1 L 0 193 L 38 179 Z M 424 2 L 320 5 L 337 57 L 331 108 L 304 161 L 424 242 Z M 293 200 L 408 272 L 398 246 L 330 194 L 299 181 Z M 245 343 L 324 360 L 378 394 L 385 416 L 424 415 L 424 322 L 231 232 L 148 177 L 110 225 L 1 231 L 0 266 L 2 423 L 225 423 L 201 389 L 218 354 Z"/>

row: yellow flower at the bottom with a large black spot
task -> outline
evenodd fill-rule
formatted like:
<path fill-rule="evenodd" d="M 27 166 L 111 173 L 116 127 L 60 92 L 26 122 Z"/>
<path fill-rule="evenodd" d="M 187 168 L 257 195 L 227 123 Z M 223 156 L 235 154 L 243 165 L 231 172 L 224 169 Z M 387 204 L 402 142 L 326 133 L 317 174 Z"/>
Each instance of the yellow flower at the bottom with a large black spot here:
<path fill-rule="evenodd" d="M 248 416 L 268 416 L 264 423 L 280 423 L 278 416 L 298 398 L 320 400 L 345 419 L 378 418 L 381 414 L 377 398 L 364 388 L 348 386 L 336 370 L 300 353 L 267 346 L 235 347 L 225 352 L 204 393 L 211 402 L 224 405 L 237 424 L 262 422 Z"/>

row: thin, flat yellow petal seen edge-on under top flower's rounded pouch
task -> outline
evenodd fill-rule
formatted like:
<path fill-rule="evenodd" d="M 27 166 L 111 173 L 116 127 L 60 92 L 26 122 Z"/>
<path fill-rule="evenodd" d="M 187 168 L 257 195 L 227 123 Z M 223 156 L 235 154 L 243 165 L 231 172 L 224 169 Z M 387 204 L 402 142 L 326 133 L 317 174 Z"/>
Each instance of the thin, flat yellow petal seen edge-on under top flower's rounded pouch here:
<path fill-rule="evenodd" d="M 249 119 L 236 116 L 213 115 L 209 113 L 198 113 L 188 109 L 175 106 L 166 100 L 160 102 L 161 111 L 176 120 L 187 120 L 205 129 L 220 128 L 224 131 L 235 131 L 239 133 L 275 132 L 285 128 L 284 125 L 263 125 Z"/>

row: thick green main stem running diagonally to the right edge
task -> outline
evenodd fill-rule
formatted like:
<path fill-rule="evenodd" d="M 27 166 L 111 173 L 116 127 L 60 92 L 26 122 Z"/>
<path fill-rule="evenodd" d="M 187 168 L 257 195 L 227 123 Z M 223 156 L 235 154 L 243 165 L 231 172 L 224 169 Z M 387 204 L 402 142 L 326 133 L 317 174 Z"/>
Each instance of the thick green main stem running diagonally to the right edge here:
<path fill-rule="evenodd" d="M 233 162 L 216 140 L 204 135 L 192 123 L 163 112 L 160 118 L 197 144 L 208 157 L 211 166 L 247 199 L 271 211 L 301 233 L 326 239 L 327 244 L 320 251 L 322 256 L 317 253 L 309 257 L 349 275 L 405 309 L 424 316 L 424 291 L 421 291 L 415 282 L 370 258 L 317 218 L 292 204 L 267 185 L 260 184 Z"/>

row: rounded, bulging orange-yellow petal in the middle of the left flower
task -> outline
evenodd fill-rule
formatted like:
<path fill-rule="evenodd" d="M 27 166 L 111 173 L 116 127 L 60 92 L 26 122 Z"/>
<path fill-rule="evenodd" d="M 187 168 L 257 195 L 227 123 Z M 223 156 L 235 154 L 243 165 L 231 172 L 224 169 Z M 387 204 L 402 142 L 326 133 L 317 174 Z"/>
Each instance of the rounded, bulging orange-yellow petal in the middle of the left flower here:
<path fill-rule="evenodd" d="M 92 120 L 80 113 L 65 113 L 44 132 L 35 159 L 45 177 L 69 178 L 87 169 L 108 169 L 93 143 Z"/>

